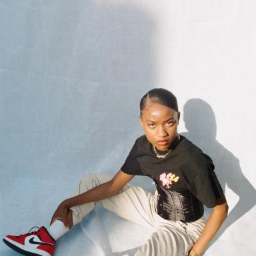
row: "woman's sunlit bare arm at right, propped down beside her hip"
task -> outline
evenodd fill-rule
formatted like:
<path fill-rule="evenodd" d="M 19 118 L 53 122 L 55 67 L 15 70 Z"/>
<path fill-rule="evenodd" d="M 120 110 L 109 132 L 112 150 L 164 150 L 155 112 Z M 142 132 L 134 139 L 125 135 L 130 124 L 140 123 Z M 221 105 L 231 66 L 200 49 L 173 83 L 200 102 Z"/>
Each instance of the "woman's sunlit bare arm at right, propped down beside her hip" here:
<path fill-rule="evenodd" d="M 223 194 L 217 200 L 217 205 L 213 207 L 213 210 L 209 215 L 209 218 L 207 219 L 203 232 L 201 233 L 199 239 L 197 239 L 197 241 L 193 245 L 193 250 L 195 251 L 195 253 L 197 253 L 198 256 L 203 253 L 209 241 L 211 241 L 215 233 L 217 233 L 219 227 L 221 227 L 221 224 L 227 217 L 228 209 L 229 207 L 227 205 L 225 195 Z M 189 253 L 189 255 L 193 255 L 193 253 Z"/>

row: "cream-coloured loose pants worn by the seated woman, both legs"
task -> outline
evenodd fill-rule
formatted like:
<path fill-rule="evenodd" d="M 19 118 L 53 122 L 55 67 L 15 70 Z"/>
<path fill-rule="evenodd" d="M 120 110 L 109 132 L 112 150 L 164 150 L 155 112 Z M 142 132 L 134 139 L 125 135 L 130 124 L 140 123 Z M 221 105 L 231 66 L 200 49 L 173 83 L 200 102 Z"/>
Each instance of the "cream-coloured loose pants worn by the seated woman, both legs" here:
<path fill-rule="evenodd" d="M 87 175 L 79 182 L 75 195 L 79 195 L 109 181 L 109 175 Z M 134 256 L 187 256 L 189 249 L 203 231 L 203 217 L 193 223 L 169 221 L 157 214 L 157 193 L 152 194 L 141 187 L 125 185 L 115 196 L 101 201 L 103 207 L 113 211 L 133 223 L 153 227 L 151 238 L 134 254 Z M 95 203 L 85 203 L 71 207 L 73 225 L 79 223 L 89 213 Z"/>

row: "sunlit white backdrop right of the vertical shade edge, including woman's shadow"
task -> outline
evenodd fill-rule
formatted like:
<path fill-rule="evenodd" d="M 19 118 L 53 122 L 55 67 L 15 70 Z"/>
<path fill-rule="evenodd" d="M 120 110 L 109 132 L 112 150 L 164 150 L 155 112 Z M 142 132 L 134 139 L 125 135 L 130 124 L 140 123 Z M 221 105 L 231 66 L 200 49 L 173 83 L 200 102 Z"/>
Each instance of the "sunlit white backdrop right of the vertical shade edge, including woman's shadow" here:
<path fill-rule="evenodd" d="M 166 4 L 155 13 L 157 86 L 179 98 L 180 131 L 213 157 L 229 203 L 207 255 L 254 255 L 256 3 Z"/>

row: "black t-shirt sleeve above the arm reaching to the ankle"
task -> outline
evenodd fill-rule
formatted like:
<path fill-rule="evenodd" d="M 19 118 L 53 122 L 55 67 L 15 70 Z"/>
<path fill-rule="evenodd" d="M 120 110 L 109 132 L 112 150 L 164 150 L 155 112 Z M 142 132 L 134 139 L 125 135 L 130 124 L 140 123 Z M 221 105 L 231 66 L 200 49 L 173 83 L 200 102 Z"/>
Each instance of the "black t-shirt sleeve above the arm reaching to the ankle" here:
<path fill-rule="evenodd" d="M 138 153 L 138 139 L 135 141 L 125 163 L 121 167 L 121 171 L 130 175 L 143 175 L 139 167 L 139 162 L 136 159 Z"/>

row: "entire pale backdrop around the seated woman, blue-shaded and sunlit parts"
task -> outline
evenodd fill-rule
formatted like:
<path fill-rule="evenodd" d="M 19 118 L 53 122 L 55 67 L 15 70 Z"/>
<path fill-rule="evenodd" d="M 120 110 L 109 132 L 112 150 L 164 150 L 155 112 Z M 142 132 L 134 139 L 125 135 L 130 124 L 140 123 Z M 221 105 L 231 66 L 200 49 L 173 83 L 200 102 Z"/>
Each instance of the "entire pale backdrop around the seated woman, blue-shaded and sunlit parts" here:
<path fill-rule="evenodd" d="M 47 225 L 86 173 L 114 175 L 143 133 L 141 97 L 164 87 L 179 101 L 179 132 L 213 158 L 229 203 L 205 255 L 256 255 L 255 1 L 11 0 L 0 9 L 1 237 Z M 149 179 L 133 183 L 153 191 Z M 133 232 L 144 231 L 99 209 L 57 255 L 125 251 L 147 237 Z M 3 243 L 0 252 L 13 255 Z"/>

